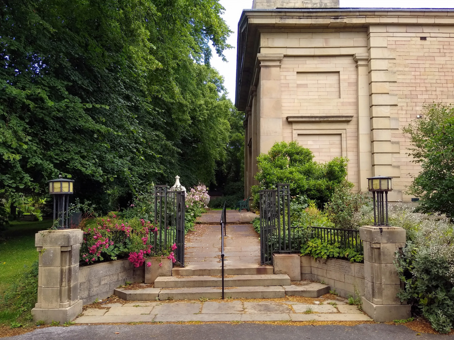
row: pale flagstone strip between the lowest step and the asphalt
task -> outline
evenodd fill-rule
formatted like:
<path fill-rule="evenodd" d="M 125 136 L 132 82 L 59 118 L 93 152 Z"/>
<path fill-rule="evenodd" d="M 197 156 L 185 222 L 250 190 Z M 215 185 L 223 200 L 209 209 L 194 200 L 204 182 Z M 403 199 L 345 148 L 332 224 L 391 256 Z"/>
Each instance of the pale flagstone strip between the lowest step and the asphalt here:
<path fill-rule="evenodd" d="M 227 301 L 121 301 L 88 308 L 75 323 L 178 322 L 178 321 L 369 321 L 369 316 L 345 299 L 304 298 L 304 302 Z M 319 300 L 319 301 L 317 301 Z M 324 301 L 323 301 L 324 300 Z M 315 302 L 320 302 L 316 304 Z M 331 304 L 329 304 L 331 303 Z"/>

